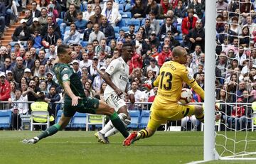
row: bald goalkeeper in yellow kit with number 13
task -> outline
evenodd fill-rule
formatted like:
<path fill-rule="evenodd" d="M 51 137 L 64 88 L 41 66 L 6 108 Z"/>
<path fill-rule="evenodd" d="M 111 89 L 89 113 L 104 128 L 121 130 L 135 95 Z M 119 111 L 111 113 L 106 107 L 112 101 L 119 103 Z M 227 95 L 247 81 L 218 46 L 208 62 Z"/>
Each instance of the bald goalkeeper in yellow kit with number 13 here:
<path fill-rule="evenodd" d="M 173 61 L 164 62 L 161 67 L 160 74 L 147 87 L 158 86 L 156 98 L 151 106 L 151 114 L 146 129 L 137 132 L 134 131 L 124 140 L 124 145 L 129 146 L 140 138 L 148 138 L 153 136 L 156 129 L 161 124 L 166 124 L 167 120 L 180 120 L 185 116 L 196 115 L 196 119 L 203 122 L 203 107 L 200 105 L 181 105 L 178 99 L 181 95 L 183 82 L 186 82 L 204 99 L 204 91 L 197 84 L 196 80 L 188 73 L 186 69 L 187 52 L 181 46 L 174 48 L 172 52 Z"/>

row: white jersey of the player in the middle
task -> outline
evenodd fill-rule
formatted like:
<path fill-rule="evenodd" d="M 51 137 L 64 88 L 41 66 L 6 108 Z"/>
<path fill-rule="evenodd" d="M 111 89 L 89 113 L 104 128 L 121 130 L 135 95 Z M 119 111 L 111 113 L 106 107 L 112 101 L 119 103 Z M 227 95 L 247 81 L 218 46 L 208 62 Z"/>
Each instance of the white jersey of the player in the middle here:
<path fill-rule="evenodd" d="M 107 72 L 112 82 L 117 86 L 117 88 L 121 89 L 122 92 L 124 92 L 127 82 L 128 82 L 128 75 L 129 75 L 129 66 L 126 62 L 120 57 L 117 59 L 112 60 L 110 62 L 110 65 L 107 67 Z M 104 99 L 106 100 L 110 94 L 114 93 L 114 89 L 110 87 L 110 85 L 107 85 L 105 91 L 104 91 Z"/>

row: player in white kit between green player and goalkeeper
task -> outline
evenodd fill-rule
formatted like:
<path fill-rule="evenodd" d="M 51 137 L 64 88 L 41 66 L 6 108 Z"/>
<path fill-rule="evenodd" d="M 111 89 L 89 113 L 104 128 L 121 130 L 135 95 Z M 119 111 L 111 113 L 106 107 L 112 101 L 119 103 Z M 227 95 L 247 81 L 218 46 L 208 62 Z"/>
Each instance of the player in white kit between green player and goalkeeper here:
<path fill-rule="evenodd" d="M 121 57 L 112 60 L 103 75 L 103 79 L 107 82 L 107 87 L 104 91 L 105 102 L 114 107 L 124 126 L 131 124 L 131 118 L 124 99 L 120 97 L 124 95 L 124 92 L 127 92 L 129 76 L 129 65 L 127 65 L 127 62 L 132 59 L 133 54 L 134 46 L 132 43 L 124 43 L 122 45 Z M 134 94 L 130 94 L 129 99 L 134 103 Z M 110 143 L 108 137 L 117 132 L 118 130 L 109 121 L 101 131 L 95 133 L 95 137 L 101 143 Z"/>

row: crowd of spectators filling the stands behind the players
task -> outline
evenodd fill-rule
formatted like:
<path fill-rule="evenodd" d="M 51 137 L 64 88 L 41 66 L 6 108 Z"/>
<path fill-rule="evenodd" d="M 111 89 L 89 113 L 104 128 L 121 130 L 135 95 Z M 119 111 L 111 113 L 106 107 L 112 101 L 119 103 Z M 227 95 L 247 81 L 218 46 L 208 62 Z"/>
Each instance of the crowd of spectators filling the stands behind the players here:
<path fill-rule="evenodd" d="M 85 94 L 90 97 L 102 99 L 106 87 L 102 72 L 119 58 L 124 42 L 132 42 L 136 48 L 127 63 L 129 92 L 134 92 L 135 102 L 154 101 L 157 88 L 146 92 L 143 84 L 159 75 L 161 65 L 172 59 L 171 50 L 177 45 L 186 48 L 188 70 L 204 89 L 205 47 L 213 46 L 205 42 L 205 0 L 41 0 L 39 4 L 33 1 L 31 10 L 26 9 L 26 1 L 9 1 L 11 6 L 6 1 L 0 1 L 0 21 L 6 22 L 6 27 L 1 23 L 0 32 L 9 26 L 11 18 L 17 20 L 15 6 L 23 8 L 26 17 L 14 31 L 13 42 L 0 46 L 0 71 L 4 77 L 1 81 L 4 84 L 0 84 L 1 101 L 36 101 L 38 92 L 43 92 L 46 102 L 58 102 L 63 89 L 55 79 L 53 60 L 60 44 L 73 48 L 70 65 L 81 77 Z M 216 1 L 215 96 L 222 102 L 256 99 L 254 3 L 254 0 Z M 193 92 L 193 101 L 203 102 L 203 99 Z M 26 114 L 29 106 L 23 104 L 17 108 Z M 145 109 L 145 106 L 134 108 Z M 231 118 L 231 126 L 236 109 L 223 105 L 221 110 Z M 250 113 L 241 111 L 239 118 Z"/>

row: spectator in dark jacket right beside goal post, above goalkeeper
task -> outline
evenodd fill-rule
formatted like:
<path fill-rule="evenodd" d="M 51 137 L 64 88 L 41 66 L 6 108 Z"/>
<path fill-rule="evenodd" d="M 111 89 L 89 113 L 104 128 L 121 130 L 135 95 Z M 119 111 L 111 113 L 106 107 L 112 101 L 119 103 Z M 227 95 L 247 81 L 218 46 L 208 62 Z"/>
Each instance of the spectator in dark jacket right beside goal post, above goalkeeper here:
<path fill-rule="evenodd" d="M 196 27 L 189 31 L 185 39 L 190 43 L 189 47 L 191 50 L 194 50 L 196 45 L 200 45 L 204 52 L 205 31 L 203 29 L 203 23 L 196 21 Z"/>

